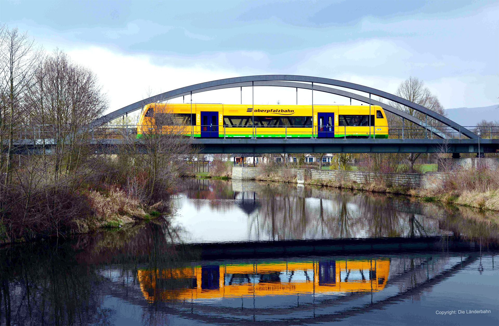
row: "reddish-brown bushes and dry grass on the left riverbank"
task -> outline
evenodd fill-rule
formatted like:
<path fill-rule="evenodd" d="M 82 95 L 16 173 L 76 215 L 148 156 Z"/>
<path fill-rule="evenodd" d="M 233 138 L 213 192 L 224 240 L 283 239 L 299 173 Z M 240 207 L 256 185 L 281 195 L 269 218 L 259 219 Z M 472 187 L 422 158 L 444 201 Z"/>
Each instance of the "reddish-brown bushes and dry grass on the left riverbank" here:
<path fill-rule="evenodd" d="M 152 183 L 145 173 L 129 172 L 116 158 L 101 158 L 100 169 L 79 179 L 77 187 L 65 176 L 56 186 L 40 186 L 28 201 L 19 185 L 10 186 L 2 195 L 0 244 L 119 228 L 169 214 L 178 178 Z"/>

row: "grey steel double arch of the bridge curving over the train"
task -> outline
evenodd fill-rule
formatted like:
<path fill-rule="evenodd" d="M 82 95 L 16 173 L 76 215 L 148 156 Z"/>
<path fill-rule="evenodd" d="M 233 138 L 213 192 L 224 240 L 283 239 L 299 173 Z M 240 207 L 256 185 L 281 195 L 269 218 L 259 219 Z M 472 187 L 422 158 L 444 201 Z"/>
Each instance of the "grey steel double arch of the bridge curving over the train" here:
<path fill-rule="evenodd" d="M 311 84 L 305 84 L 305 83 L 311 83 Z M 401 97 L 398 97 L 396 95 L 355 84 L 355 83 L 350 83 L 350 82 L 345 82 L 341 80 L 335 80 L 335 79 L 329 79 L 329 78 L 321 78 L 321 77 L 311 77 L 311 76 L 297 76 L 297 75 L 256 75 L 256 76 L 244 76 L 244 77 L 235 77 L 235 78 L 226 78 L 226 79 L 219 79 L 219 80 L 213 80 L 205 83 L 200 83 L 200 84 L 195 84 L 191 86 L 186 86 L 182 88 L 178 88 L 172 91 L 164 92 L 155 96 L 151 96 L 147 99 L 141 100 L 139 102 L 135 102 L 133 104 L 127 105 L 119 110 L 113 111 L 105 116 L 102 116 L 101 118 L 98 118 L 94 120 L 91 124 L 90 127 L 97 127 L 100 125 L 103 125 L 111 120 L 114 120 L 116 118 L 122 117 L 128 113 L 137 111 L 141 109 L 144 105 L 148 103 L 153 103 L 153 102 L 160 102 L 160 101 L 166 101 L 170 99 L 174 99 L 180 96 L 185 96 L 189 94 L 195 94 L 195 93 L 200 93 L 200 92 L 206 92 L 210 90 L 215 90 L 215 89 L 224 89 L 224 88 L 234 88 L 234 87 L 248 87 L 248 86 L 282 86 L 282 87 L 296 87 L 296 88 L 303 88 L 303 89 L 313 89 L 317 91 L 322 91 L 322 92 L 327 92 L 331 94 L 337 94 L 349 98 L 353 98 L 365 103 L 369 102 L 369 99 L 365 96 L 361 96 L 358 94 L 354 94 L 351 92 L 346 92 L 343 90 L 338 90 L 330 87 L 325 87 L 321 85 L 314 85 L 314 83 L 319 83 L 319 84 L 326 84 L 326 85 L 331 85 L 331 86 L 337 86 L 337 87 L 343 87 L 343 88 L 349 88 L 365 93 L 369 93 L 372 95 L 376 95 L 382 98 L 385 98 L 387 100 L 394 101 L 396 103 L 400 103 L 402 105 L 405 105 L 407 107 L 410 107 L 416 111 L 419 111 L 421 113 L 424 113 L 428 115 L 429 117 L 440 121 L 444 125 L 451 127 L 455 129 L 456 131 L 459 131 L 463 135 L 465 135 L 468 138 L 476 139 L 478 138 L 477 135 L 469 131 L 468 129 L 460 126 L 459 124 L 455 123 L 454 121 L 432 111 L 429 110 L 419 104 L 416 104 L 414 102 L 408 101 L 406 99 L 403 99 Z M 433 128 L 431 126 L 426 126 L 424 122 L 422 122 L 419 119 L 416 119 L 408 114 L 406 114 L 403 111 L 400 111 L 396 108 L 393 108 L 389 105 L 386 105 L 384 103 L 375 101 L 370 99 L 371 104 L 375 105 L 380 105 L 383 109 L 392 112 L 396 114 L 397 116 L 400 116 L 404 119 L 407 119 L 409 121 L 412 121 L 427 130 L 431 131 L 435 135 L 437 135 L 440 138 L 446 138 L 443 133 L 438 131 L 436 128 Z"/>

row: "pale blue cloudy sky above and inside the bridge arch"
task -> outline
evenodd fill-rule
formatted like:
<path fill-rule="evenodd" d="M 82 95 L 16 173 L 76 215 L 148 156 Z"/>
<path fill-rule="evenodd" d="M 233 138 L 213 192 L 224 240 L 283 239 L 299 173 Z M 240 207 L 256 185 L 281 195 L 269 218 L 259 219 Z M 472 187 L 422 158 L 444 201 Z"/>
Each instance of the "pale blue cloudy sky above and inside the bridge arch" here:
<path fill-rule="evenodd" d="M 248 10 L 249 4 L 241 10 L 240 6 L 232 10 Z M 497 103 L 499 7 L 477 6 L 433 13 L 418 9 L 396 16 L 354 12 L 358 19 L 350 17 L 341 26 L 329 23 L 334 16 L 324 16 L 322 23 L 308 21 L 315 7 L 297 12 L 299 19 L 277 19 L 269 11 L 240 21 L 240 14 L 214 7 L 210 15 L 189 12 L 155 20 L 151 15 L 137 19 L 141 15 L 123 14 L 113 24 L 75 23 L 66 29 L 48 20 L 42 24 L 39 17 L 9 24 L 28 30 L 48 51 L 58 46 L 95 71 L 108 90 L 113 110 L 142 99 L 148 87 L 159 93 L 253 74 L 328 77 L 391 93 L 401 81 L 416 76 L 451 108 Z M 261 12 L 261 4 L 256 7 L 251 12 Z M 289 10 L 277 16 L 291 15 Z M 236 17 L 236 21 L 217 18 L 221 16 Z M 310 103 L 309 91 L 298 93 L 299 103 Z M 237 90 L 221 90 L 196 94 L 193 100 L 239 103 L 240 96 Z M 250 103 L 251 98 L 250 90 L 244 89 L 243 102 Z M 292 104 L 296 94 L 289 89 L 257 88 L 254 98 L 255 103 Z M 317 93 L 314 101 L 347 104 L 348 100 Z"/>

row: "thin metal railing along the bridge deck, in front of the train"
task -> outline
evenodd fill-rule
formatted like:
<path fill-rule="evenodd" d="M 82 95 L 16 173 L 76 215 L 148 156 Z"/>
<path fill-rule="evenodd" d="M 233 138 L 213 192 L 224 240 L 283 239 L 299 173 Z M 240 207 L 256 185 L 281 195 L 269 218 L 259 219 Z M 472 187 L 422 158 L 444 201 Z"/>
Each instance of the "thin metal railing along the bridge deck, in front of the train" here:
<path fill-rule="evenodd" d="M 81 139 L 124 139 L 136 138 L 138 131 L 145 131 L 145 134 L 161 133 L 161 128 L 151 130 L 151 126 L 146 125 L 104 125 L 98 128 L 92 128 L 81 134 Z M 176 126 L 178 127 L 178 126 Z M 482 139 L 499 139 L 499 126 L 428 126 L 421 127 L 416 125 L 390 125 L 390 126 L 375 126 L 371 127 L 369 133 L 368 126 L 360 126 L 362 132 L 352 130 L 357 126 L 181 126 L 174 128 L 175 133 L 179 135 L 199 135 L 210 132 L 208 136 L 214 136 L 215 133 L 222 138 L 266 138 L 266 137 L 281 137 L 281 138 L 356 138 L 366 137 L 371 135 L 371 138 L 382 138 L 385 136 L 386 127 L 388 127 L 388 138 L 391 139 L 466 139 L 467 137 L 461 132 L 464 128 L 474 133 L 478 133 L 480 129 L 480 138 Z M 298 129 L 299 128 L 299 129 Z M 306 128 L 309 131 L 304 131 Z M 279 129 L 278 131 L 276 129 Z M 275 130 L 275 132 L 273 132 Z M 327 134 L 325 134 L 327 133 Z M 59 139 L 68 135 L 67 130 L 60 130 L 55 125 L 44 126 L 19 126 L 13 135 L 14 140 L 40 140 L 40 139 Z M 139 133 L 140 134 L 140 133 Z M 205 134 L 206 135 L 206 134 Z M 386 137 L 386 136 L 385 136 Z"/>

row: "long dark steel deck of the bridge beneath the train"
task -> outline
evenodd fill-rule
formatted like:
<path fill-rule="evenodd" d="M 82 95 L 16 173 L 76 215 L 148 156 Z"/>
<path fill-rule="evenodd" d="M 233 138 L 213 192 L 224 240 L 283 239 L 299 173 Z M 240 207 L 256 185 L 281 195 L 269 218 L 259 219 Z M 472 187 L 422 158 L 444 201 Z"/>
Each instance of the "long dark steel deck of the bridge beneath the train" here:
<path fill-rule="evenodd" d="M 192 139 L 201 154 L 267 154 L 267 153 L 478 153 L 478 139 Z M 126 143 L 121 139 L 91 140 L 88 146 L 95 154 L 119 154 Z M 129 143 L 127 143 L 129 144 Z M 140 141 L 134 146 L 144 151 Z M 15 154 L 42 154 L 41 140 L 15 142 Z M 45 141 L 45 153 L 54 147 Z M 498 153 L 499 139 L 480 139 L 480 153 Z"/>

